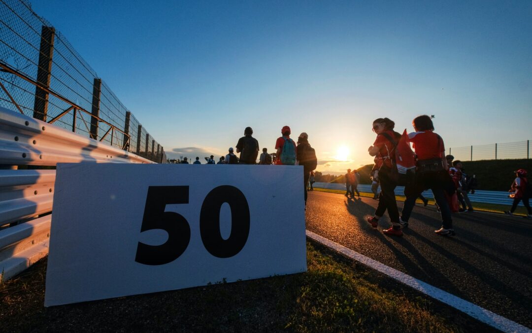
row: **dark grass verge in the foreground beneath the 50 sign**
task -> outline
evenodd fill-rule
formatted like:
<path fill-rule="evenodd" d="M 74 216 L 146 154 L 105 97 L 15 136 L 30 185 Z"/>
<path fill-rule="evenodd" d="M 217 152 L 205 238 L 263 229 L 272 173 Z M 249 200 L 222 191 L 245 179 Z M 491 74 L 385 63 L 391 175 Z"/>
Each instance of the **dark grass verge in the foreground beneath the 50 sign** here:
<path fill-rule="evenodd" d="M 0 285 L 0 331 L 493 331 L 312 241 L 306 273 L 48 308 L 46 262 Z"/>

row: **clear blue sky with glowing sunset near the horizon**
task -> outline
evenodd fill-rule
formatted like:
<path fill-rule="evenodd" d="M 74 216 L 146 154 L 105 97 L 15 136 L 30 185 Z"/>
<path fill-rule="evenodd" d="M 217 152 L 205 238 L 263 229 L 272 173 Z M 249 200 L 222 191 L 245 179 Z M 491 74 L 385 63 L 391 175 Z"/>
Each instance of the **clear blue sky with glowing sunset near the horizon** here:
<path fill-rule="evenodd" d="M 271 152 L 289 125 L 341 172 L 371 163 L 374 119 L 421 114 L 447 147 L 531 139 L 530 1 L 31 4 L 169 156 L 225 155 L 246 126 Z"/>

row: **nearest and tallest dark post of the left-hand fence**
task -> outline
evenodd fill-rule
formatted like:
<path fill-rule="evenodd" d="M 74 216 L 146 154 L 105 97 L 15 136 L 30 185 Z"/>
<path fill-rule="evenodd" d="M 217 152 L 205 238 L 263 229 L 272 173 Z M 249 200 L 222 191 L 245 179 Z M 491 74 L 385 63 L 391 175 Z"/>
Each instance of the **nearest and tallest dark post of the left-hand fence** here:
<path fill-rule="evenodd" d="M 50 87 L 52 76 L 52 57 L 54 54 L 55 29 L 43 26 L 40 31 L 39 62 L 37 67 L 37 83 L 45 88 Z M 48 113 L 48 92 L 35 87 L 34 118 L 46 121 Z"/>

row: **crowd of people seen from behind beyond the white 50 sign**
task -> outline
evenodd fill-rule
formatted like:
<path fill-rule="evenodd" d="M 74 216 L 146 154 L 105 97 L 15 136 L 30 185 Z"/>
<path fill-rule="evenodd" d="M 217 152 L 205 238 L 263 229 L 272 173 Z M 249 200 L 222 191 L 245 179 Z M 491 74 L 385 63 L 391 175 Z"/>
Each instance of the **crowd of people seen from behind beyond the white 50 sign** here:
<path fill-rule="evenodd" d="M 308 134 L 305 132 L 301 133 L 297 137 L 297 143 L 290 138 L 291 134 L 290 127 L 283 126 L 281 128 L 281 136 L 277 138 L 275 144 L 275 154 L 270 154 L 267 148 L 263 148 L 259 157 L 259 141 L 253 137 L 253 129 L 246 127 L 244 129 L 244 136 L 238 139 L 235 146 L 236 153 L 239 153 L 240 156 L 237 156 L 235 149 L 230 147 L 226 156 L 220 156 L 218 163 L 215 163 L 213 155 L 205 157 L 206 164 L 302 165 L 306 205 L 308 186 L 310 184 L 310 191 L 312 191 L 312 184 L 314 183 L 313 170 L 318 165 L 318 160 L 314 148 L 309 143 Z M 259 163 L 257 163 L 257 157 L 259 157 Z M 183 158 L 179 163 L 189 164 L 188 158 Z M 196 157 L 193 164 L 201 164 L 200 157 Z M 310 182 L 309 179 L 311 179 Z"/>

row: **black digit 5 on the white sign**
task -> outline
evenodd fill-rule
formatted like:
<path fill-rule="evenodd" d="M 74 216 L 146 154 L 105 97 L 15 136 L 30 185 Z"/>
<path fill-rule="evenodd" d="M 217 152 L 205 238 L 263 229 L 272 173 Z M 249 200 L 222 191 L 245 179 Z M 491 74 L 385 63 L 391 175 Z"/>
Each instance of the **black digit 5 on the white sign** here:
<path fill-rule="evenodd" d="M 168 240 L 162 245 L 138 242 L 135 261 L 145 265 L 163 265 L 185 252 L 190 241 L 190 226 L 185 217 L 164 212 L 166 205 L 188 204 L 188 186 L 149 186 L 140 232 L 162 229 Z"/>

